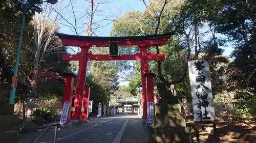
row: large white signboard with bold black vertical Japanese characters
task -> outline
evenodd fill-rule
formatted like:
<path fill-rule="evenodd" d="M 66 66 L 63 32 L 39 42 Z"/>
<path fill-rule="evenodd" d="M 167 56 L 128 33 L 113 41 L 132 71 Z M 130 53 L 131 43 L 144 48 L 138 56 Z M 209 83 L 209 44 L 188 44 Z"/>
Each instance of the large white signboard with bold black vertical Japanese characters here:
<path fill-rule="evenodd" d="M 205 59 L 188 62 L 191 96 L 195 121 L 214 121 L 214 99 L 212 97 L 209 63 Z"/>

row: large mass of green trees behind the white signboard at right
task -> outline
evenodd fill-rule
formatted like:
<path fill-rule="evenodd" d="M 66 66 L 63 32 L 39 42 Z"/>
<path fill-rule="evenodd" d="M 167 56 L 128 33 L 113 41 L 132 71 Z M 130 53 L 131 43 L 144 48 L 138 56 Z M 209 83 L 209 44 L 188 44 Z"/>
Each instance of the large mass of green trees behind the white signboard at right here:
<path fill-rule="evenodd" d="M 192 0 L 179 4 L 170 1 L 163 8 L 163 1 L 151 1 L 145 11 L 127 12 L 116 19 L 112 28 L 115 36 L 140 36 L 175 31 L 176 35 L 159 47 L 166 60 L 161 64 L 162 76 L 168 81 L 181 79 L 186 69 L 186 56 L 203 58 L 209 61 L 212 90 L 215 94 L 236 96 L 224 101 L 237 118 L 255 118 L 255 6 L 254 1 Z M 172 6 L 172 7 L 170 7 Z M 162 15 L 160 11 L 163 9 Z M 160 18 L 159 29 L 157 28 Z M 196 35 L 197 34 L 197 35 Z M 231 60 L 222 55 L 226 47 L 233 48 Z M 194 48 L 195 47 L 195 48 Z M 130 53 L 137 52 L 130 50 Z M 148 49 L 156 53 L 155 48 Z M 138 95 L 141 84 L 140 63 L 134 63 L 130 93 Z M 148 68 L 158 73 L 158 65 L 148 62 Z M 155 79 L 155 82 L 159 82 Z M 250 90 L 248 90 L 250 89 Z M 182 82 L 170 87 L 177 96 L 191 102 L 188 76 Z M 250 93 L 250 94 L 248 94 Z M 219 98 L 219 97 L 218 97 Z M 238 101 L 237 101 L 238 100 Z M 236 101 L 236 102 L 233 102 Z M 238 102 L 238 103 L 237 103 Z M 236 104 L 234 104 L 236 103 Z"/>

